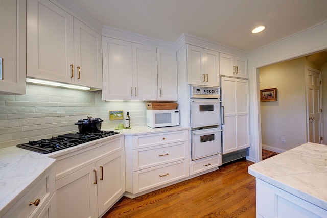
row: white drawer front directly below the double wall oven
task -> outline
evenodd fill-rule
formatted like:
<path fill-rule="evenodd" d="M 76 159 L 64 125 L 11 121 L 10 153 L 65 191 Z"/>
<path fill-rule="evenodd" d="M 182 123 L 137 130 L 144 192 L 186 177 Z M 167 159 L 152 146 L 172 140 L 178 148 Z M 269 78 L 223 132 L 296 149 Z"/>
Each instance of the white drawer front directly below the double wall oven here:
<path fill-rule="evenodd" d="M 204 160 L 192 161 L 190 163 L 190 176 L 221 166 L 221 155 L 215 155 Z"/>

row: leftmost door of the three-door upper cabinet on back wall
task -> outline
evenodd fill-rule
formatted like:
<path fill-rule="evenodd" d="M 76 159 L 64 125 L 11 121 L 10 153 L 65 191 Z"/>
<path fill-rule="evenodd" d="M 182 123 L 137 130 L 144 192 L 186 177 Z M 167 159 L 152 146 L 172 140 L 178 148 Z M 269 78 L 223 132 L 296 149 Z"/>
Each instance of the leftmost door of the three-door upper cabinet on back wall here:
<path fill-rule="evenodd" d="M 102 37 L 103 100 L 133 99 L 132 43 Z"/>

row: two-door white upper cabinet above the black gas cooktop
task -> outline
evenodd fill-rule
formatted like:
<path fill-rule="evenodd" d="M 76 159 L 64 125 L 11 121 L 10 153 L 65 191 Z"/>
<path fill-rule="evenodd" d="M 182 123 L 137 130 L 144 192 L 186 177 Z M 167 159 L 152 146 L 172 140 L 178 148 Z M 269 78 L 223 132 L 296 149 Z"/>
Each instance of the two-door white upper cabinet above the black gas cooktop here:
<path fill-rule="evenodd" d="M 101 35 L 48 0 L 27 2 L 27 76 L 102 88 Z"/>

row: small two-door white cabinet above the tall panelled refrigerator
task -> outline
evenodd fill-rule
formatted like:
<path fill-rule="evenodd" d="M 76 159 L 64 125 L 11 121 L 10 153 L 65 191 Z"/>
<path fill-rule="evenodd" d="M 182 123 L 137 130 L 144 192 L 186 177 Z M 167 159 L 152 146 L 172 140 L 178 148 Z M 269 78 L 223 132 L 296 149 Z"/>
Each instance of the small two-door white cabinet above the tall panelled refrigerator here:
<path fill-rule="evenodd" d="M 219 53 L 219 71 L 221 76 L 247 78 L 247 59 Z"/>

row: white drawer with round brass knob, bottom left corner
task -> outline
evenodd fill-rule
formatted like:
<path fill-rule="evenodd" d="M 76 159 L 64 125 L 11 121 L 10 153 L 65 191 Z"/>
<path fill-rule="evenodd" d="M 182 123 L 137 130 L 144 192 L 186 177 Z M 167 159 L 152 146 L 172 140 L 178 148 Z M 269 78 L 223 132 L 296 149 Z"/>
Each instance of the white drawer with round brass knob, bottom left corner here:
<path fill-rule="evenodd" d="M 55 172 L 51 169 L 50 174 L 43 177 L 34 187 L 22 197 L 4 216 L 5 217 L 36 217 L 48 204 L 55 193 Z M 30 202 L 40 200 L 38 206 L 30 205 Z"/>

